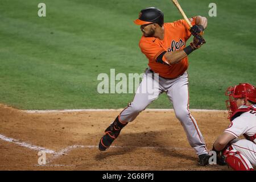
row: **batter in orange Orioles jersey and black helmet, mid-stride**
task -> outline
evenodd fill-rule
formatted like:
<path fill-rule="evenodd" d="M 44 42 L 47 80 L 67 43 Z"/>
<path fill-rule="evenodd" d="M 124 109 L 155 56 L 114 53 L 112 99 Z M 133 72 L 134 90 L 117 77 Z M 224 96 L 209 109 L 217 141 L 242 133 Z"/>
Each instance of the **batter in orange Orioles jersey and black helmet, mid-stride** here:
<path fill-rule="evenodd" d="M 184 127 L 189 144 L 199 155 L 199 164 L 208 163 L 208 151 L 204 138 L 197 126 L 195 118 L 189 111 L 188 95 L 188 55 L 205 43 L 202 35 L 207 27 L 207 18 L 195 16 L 189 19 L 192 28 L 185 20 L 164 23 L 162 11 L 155 7 L 141 10 L 135 24 L 141 26 L 142 38 L 139 41 L 141 52 L 148 59 L 141 84 L 134 100 L 118 115 L 115 121 L 105 130 L 99 149 L 105 151 L 118 137 L 121 129 L 133 121 L 141 111 L 156 100 L 159 94 L 166 93 L 175 110 L 175 115 Z M 193 42 L 186 46 L 187 40 L 194 35 Z M 154 75 L 157 73 L 158 75 Z M 159 76 L 159 77 L 158 77 Z M 156 78 L 157 77 L 157 78 Z M 144 93 L 148 84 L 156 83 L 154 93 Z"/>

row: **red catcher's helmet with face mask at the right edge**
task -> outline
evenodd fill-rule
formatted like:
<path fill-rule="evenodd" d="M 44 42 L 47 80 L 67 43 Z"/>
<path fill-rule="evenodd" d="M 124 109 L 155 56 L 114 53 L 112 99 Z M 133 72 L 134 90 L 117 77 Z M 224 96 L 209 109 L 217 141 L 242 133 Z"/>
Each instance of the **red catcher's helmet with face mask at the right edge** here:
<path fill-rule="evenodd" d="M 229 112 L 229 117 L 236 111 L 237 104 L 236 100 L 238 98 L 244 98 L 245 102 L 251 101 L 256 102 L 256 88 L 255 86 L 247 83 L 241 83 L 236 86 L 230 86 L 225 93 L 226 96 L 229 96 L 229 100 L 226 101 L 226 107 Z"/>

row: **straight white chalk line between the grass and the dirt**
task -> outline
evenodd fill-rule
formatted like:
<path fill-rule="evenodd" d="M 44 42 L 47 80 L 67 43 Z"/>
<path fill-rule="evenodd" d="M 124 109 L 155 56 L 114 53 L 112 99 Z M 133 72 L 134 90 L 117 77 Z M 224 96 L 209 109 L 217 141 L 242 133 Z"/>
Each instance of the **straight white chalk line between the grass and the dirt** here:
<path fill-rule="evenodd" d="M 123 109 L 63 109 L 63 110 L 23 110 L 26 113 L 71 113 L 86 111 L 122 111 Z M 189 109 L 195 112 L 220 112 L 226 110 Z M 145 109 L 144 111 L 174 111 L 174 109 Z"/>

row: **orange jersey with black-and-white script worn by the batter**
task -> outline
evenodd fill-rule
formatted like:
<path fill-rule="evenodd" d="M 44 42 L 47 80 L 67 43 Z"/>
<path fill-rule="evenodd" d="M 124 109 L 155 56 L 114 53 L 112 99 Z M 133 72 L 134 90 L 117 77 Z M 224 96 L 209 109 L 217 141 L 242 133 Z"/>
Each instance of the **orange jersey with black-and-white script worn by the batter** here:
<path fill-rule="evenodd" d="M 192 26 L 196 24 L 196 19 L 189 19 Z M 173 23 L 164 23 L 164 39 L 142 36 L 139 47 L 142 53 L 148 59 L 148 66 L 159 76 L 164 78 L 176 78 L 182 75 L 188 68 L 188 57 L 185 57 L 179 63 L 168 65 L 160 63 L 156 58 L 166 52 L 174 52 L 185 48 L 186 41 L 190 38 L 191 32 L 184 19 Z M 163 61 L 166 58 L 163 56 Z"/>

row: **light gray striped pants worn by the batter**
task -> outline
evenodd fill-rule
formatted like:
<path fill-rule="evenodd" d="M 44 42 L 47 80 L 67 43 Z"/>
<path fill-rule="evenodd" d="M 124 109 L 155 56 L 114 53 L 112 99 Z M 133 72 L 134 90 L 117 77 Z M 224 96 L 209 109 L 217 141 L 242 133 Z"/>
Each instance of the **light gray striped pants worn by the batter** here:
<path fill-rule="evenodd" d="M 168 98 L 172 102 L 175 115 L 181 122 L 187 134 L 188 142 L 191 147 L 195 148 L 196 154 L 208 154 L 204 138 L 197 126 L 196 120 L 189 111 L 187 72 L 174 79 L 165 79 L 154 75 L 150 69 L 146 69 L 133 102 L 119 114 L 119 121 L 133 121 L 141 111 L 146 109 L 163 92 L 167 93 Z"/>

